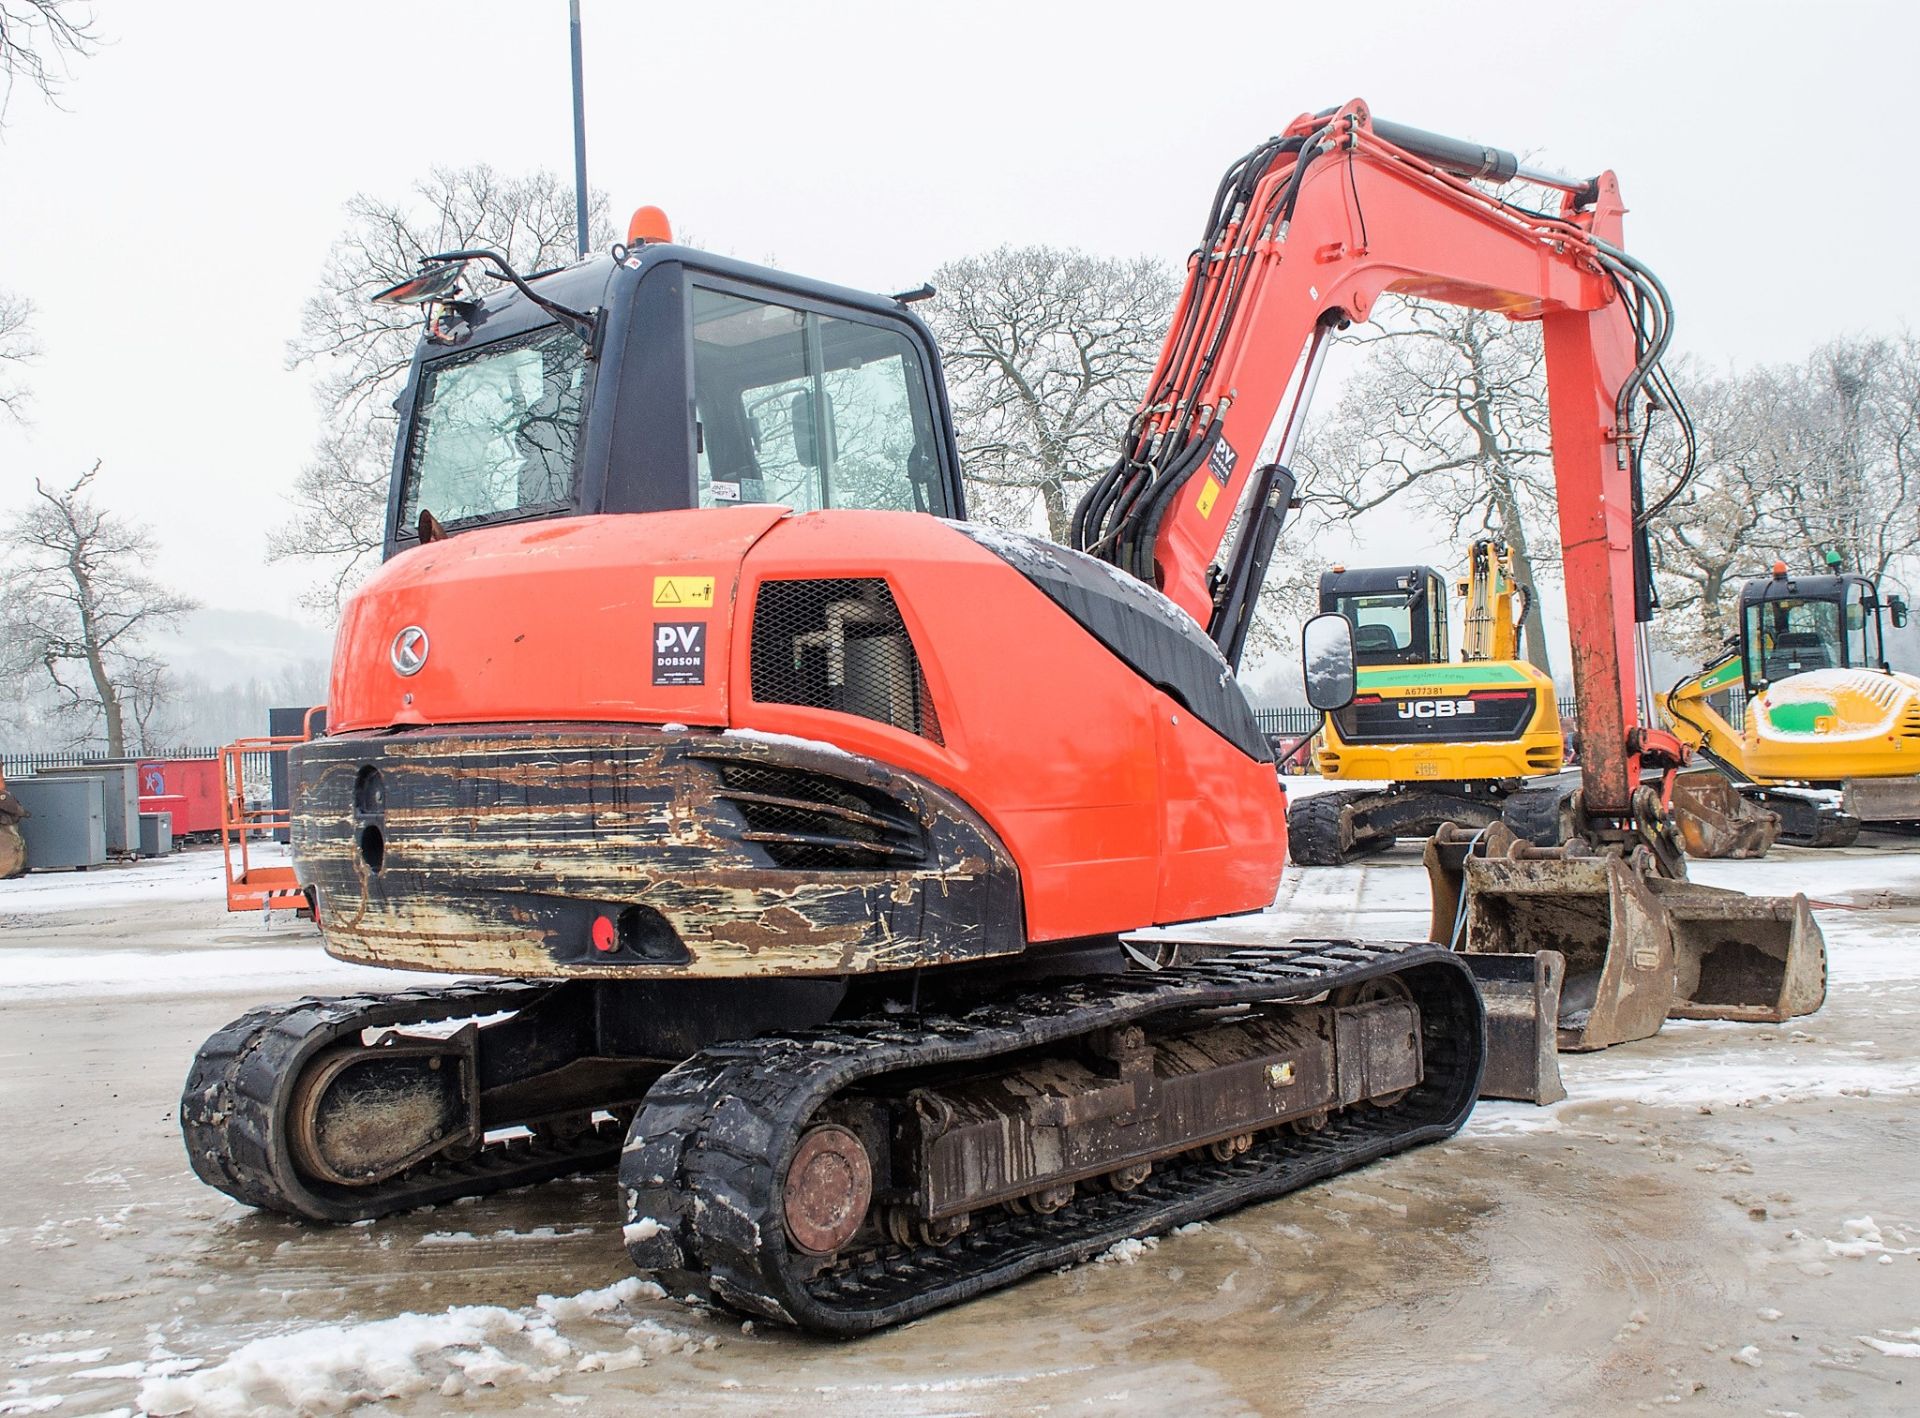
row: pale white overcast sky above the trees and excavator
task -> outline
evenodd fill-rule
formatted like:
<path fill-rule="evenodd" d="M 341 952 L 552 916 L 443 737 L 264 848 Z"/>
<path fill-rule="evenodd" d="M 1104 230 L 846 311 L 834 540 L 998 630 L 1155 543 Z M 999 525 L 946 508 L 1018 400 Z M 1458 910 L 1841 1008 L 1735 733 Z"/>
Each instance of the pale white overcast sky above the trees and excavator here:
<path fill-rule="evenodd" d="M 872 290 L 1000 242 L 1185 259 L 1294 115 L 1611 167 L 1676 347 L 1795 359 L 1920 324 L 1910 4 L 626 4 L 586 0 L 588 163 L 745 259 Z M 0 503 L 100 491 L 215 606 L 298 614 L 267 530 L 317 434 L 286 340 L 355 192 L 568 173 L 566 4 L 104 0 L 63 109 L 0 134 L 0 288 L 38 305 Z M 1434 555 L 1452 562 L 1446 549 Z"/>

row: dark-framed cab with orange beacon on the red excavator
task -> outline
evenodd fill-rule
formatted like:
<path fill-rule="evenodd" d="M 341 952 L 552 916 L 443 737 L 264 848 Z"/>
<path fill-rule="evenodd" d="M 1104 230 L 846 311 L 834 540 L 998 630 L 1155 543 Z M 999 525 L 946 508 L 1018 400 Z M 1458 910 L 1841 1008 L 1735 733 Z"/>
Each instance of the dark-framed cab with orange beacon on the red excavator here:
<path fill-rule="evenodd" d="M 422 514 L 449 533 L 755 503 L 966 516 L 933 336 L 904 303 L 670 244 L 461 295 L 482 255 L 388 294 L 430 309 L 388 560 Z"/>

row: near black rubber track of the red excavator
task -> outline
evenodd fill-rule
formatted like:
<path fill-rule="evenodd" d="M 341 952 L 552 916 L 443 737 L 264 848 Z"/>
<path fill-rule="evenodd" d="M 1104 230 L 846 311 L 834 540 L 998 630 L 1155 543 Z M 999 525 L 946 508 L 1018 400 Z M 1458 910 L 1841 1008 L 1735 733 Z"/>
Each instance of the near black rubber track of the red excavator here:
<path fill-rule="evenodd" d="M 943 1245 L 879 1245 L 816 1272 L 787 1245 L 787 1165 L 833 1096 L 899 1071 L 966 1073 L 1171 1009 L 1315 998 L 1394 975 L 1421 1009 L 1425 1078 L 1386 1109 L 1313 1134 L 1269 1130 L 1229 1163 L 1171 1159 L 1135 1192 L 1085 1192 L 1046 1217 L 1000 1209 Z M 1294 942 L 1198 965 L 1064 984 L 960 1017 L 872 1019 L 722 1044 L 664 1075 L 620 1159 L 628 1253 L 674 1291 L 820 1334 L 864 1334 L 1450 1136 L 1473 1111 L 1486 1017 L 1465 963 L 1432 946 Z"/>

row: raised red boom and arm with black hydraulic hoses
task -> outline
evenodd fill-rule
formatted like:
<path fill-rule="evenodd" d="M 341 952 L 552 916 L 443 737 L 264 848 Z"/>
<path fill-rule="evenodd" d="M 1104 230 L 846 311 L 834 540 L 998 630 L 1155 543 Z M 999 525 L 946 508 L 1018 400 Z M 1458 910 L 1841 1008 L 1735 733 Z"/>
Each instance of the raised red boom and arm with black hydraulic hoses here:
<path fill-rule="evenodd" d="M 1083 501 L 1075 545 L 1158 585 L 1223 639 L 1231 627 L 1215 599 L 1235 568 L 1210 568 L 1248 487 L 1261 485 L 1254 470 L 1290 455 L 1331 330 L 1365 320 L 1386 294 L 1540 320 L 1584 806 L 1594 821 L 1622 827 L 1647 744 L 1630 735 L 1628 409 L 1659 353 L 1628 295 L 1638 299 L 1651 278 L 1620 251 L 1613 173 L 1561 190 L 1555 213 L 1530 213 L 1467 180 L 1484 171 L 1511 175 L 1517 163 L 1375 123 L 1359 100 L 1294 119 L 1235 163 L 1129 447 Z"/>

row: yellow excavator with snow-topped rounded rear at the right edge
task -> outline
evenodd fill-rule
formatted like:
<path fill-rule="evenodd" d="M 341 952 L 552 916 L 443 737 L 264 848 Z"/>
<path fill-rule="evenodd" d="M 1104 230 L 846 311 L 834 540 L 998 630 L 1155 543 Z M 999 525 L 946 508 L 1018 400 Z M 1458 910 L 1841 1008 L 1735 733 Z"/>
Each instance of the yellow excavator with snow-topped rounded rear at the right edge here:
<path fill-rule="evenodd" d="M 1887 666 L 1907 603 L 1872 578 L 1772 576 L 1740 589 L 1724 654 L 1665 698 L 1672 733 L 1780 817 L 1780 840 L 1847 846 L 1862 823 L 1920 823 L 1920 679 Z M 1743 689 L 1740 727 L 1728 718 Z M 1716 702 L 1718 700 L 1718 702 Z M 1682 775 L 1692 777 L 1692 775 Z"/>

